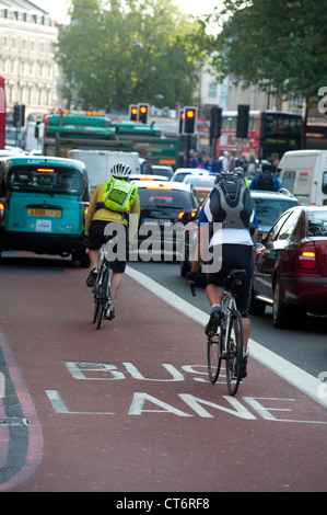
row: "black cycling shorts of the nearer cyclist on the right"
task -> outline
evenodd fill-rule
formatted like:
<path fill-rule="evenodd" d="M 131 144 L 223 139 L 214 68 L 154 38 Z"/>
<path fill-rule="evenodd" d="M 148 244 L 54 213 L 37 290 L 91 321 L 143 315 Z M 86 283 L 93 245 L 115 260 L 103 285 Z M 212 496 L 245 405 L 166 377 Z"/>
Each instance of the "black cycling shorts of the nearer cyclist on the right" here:
<path fill-rule="evenodd" d="M 207 284 L 223 287 L 224 279 L 232 268 L 245 270 L 246 276 L 236 290 L 236 306 L 242 318 L 247 318 L 248 300 L 254 273 L 253 247 L 224 243 L 222 244 L 222 266 L 219 272 L 207 274 Z"/>

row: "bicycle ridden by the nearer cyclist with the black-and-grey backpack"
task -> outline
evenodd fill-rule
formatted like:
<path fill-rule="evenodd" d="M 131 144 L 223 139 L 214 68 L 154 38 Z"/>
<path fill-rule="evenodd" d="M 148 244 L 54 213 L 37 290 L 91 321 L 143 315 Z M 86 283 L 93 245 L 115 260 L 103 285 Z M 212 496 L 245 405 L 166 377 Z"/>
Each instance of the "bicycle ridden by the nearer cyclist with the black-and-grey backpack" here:
<path fill-rule="evenodd" d="M 222 318 L 217 333 L 207 340 L 208 373 L 211 382 L 217 382 L 222 360 L 225 360 L 226 382 L 231 396 L 235 396 L 242 379 L 243 322 L 236 307 L 236 287 L 242 285 L 245 270 L 233 268 L 224 281 Z M 195 296 L 195 285 L 190 284 Z"/>

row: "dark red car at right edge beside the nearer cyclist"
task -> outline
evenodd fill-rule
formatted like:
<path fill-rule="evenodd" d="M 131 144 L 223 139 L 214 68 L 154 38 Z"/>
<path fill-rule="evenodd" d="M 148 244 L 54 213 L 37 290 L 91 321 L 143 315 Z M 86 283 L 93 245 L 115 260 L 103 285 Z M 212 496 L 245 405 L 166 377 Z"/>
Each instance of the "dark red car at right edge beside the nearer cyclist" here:
<path fill-rule="evenodd" d="M 276 328 L 327 314 L 327 206 L 288 209 L 258 247 L 249 312 L 262 314 L 266 305 Z"/>

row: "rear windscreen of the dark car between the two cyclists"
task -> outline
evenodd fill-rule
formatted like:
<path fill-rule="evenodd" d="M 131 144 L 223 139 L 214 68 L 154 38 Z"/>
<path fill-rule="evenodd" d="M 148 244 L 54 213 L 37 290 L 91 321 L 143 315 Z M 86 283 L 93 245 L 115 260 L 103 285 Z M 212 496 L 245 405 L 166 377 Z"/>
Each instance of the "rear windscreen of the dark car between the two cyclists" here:
<path fill-rule="evenodd" d="M 170 207 L 172 209 L 195 209 L 194 198 L 189 192 L 178 190 L 139 187 L 140 205 L 143 209 Z"/>

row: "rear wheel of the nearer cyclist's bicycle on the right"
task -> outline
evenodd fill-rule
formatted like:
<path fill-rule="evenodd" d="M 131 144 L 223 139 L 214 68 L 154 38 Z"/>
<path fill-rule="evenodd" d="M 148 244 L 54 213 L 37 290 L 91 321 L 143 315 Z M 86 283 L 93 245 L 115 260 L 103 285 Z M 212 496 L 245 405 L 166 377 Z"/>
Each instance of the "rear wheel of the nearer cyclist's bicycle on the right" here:
<path fill-rule="evenodd" d="M 243 323 L 240 311 L 233 311 L 226 343 L 226 380 L 231 396 L 237 392 L 243 360 Z"/>

